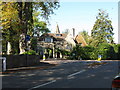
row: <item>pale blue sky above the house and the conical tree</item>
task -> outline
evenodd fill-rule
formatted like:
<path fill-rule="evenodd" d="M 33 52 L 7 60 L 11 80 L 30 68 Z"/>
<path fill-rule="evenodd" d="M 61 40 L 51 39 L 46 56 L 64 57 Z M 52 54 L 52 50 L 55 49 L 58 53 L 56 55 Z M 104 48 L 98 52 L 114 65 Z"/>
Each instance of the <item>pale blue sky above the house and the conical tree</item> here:
<path fill-rule="evenodd" d="M 99 0 L 98 0 L 99 1 Z M 96 16 L 98 14 L 98 9 L 105 10 L 109 19 L 112 21 L 112 26 L 114 28 L 114 41 L 118 42 L 118 2 L 110 1 L 106 2 L 100 1 L 95 2 L 94 0 L 88 2 L 87 0 L 65 0 L 60 2 L 60 8 L 54 10 L 55 15 L 51 15 L 50 24 L 48 28 L 52 33 L 56 30 L 56 25 L 59 25 L 61 33 L 66 29 L 71 30 L 75 28 L 76 34 L 86 30 L 89 35 L 96 21 Z M 114 2 L 113 2 L 114 1 Z"/>

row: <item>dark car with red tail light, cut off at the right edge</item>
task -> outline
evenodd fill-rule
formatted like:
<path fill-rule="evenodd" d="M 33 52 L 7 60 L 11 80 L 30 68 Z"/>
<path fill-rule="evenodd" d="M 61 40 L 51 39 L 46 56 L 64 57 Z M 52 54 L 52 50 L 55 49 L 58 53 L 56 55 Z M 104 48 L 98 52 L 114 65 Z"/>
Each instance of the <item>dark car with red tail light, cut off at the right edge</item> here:
<path fill-rule="evenodd" d="M 112 81 L 112 90 L 120 90 L 120 73 Z"/>

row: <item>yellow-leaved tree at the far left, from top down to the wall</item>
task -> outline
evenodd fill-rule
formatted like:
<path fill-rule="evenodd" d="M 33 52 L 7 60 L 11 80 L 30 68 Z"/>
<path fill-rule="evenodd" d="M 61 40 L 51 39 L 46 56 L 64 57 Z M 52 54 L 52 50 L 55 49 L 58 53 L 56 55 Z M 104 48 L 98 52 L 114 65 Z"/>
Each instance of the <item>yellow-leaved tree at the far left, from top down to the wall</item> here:
<path fill-rule="evenodd" d="M 2 42 L 5 45 L 3 47 L 4 49 L 9 47 L 9 51 L 6 51 L 8 54 L 17 53 L 18 51 L 16 48 L 18 48 L 17 42 L 19 40 L 19 18 L 17 14 L 18 11 L 16 10 L 16 4 L 15 2 L 1 2 L 0 10 L 0 22 L 3 33 Z M 6 44 L 8 44 L 8 46 L 6 46 Z"/>

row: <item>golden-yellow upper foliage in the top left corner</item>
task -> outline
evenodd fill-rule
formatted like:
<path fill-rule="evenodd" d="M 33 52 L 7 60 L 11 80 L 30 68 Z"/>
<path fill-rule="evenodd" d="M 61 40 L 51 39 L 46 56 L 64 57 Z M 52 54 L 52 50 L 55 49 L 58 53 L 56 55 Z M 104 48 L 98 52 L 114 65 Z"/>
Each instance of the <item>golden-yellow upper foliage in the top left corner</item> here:
<path fill-rule="evenodd" d="M 0 8 L 0 20 L 3 30 L 7 30 L 10 27 L 14 28 L 13 30 L 18 30 L 19 18 L 16 4 L 14 2 L 2 2 Z"/>

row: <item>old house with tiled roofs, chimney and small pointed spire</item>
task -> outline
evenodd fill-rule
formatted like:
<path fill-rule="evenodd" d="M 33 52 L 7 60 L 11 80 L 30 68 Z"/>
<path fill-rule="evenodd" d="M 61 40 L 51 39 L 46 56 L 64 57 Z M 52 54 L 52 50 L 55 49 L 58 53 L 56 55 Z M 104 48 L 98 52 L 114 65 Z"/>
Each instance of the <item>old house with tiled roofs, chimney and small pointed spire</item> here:
<path fill-rule="evenodd" d="M 40 36 L 37 47 L 40 54 L 45 54 L 48 58 L 64 58 L 61 50 L 71 51 L 76 44 L 81 43 L 86 46 L 84 38 L 80 35 L 75 36 L 75 29 L 72 33 L 60 33 L 59 26 L 56 27 L 55 33 L 45 33 Z"/>

